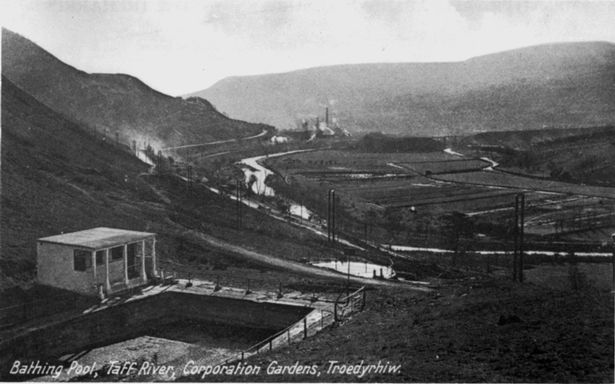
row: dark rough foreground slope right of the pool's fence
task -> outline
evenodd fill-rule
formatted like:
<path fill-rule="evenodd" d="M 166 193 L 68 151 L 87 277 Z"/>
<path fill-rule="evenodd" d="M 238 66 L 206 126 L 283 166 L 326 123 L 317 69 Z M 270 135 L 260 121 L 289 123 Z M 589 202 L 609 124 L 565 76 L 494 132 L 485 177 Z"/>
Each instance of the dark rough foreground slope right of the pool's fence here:
<path fill-rule="evenodd" d="M 437 293 L 369 292 L 342 326 L 247 364 L 246 382 L 608 383 L 613 380 L 613 302 L 594 289 L 555 291 L 493 279 L 452 282 Z M 275 368 L 316 366 L 315 375 Z M 400 366 L 395 373 L 363 371 Z M 267 368 L 272 367 L 267 374 Z M 341 370 L 340 368 L 344 368 Z M 308 371 L 309 372 L 309 371 Z M 320 374 L 319 374 L 320 373 Z M 208 376 L 223 381 L 224 376 Z M 200 376 L 181 381 L 202 381 Z M 228 379 L 227 379 L 228 380 Z"/>

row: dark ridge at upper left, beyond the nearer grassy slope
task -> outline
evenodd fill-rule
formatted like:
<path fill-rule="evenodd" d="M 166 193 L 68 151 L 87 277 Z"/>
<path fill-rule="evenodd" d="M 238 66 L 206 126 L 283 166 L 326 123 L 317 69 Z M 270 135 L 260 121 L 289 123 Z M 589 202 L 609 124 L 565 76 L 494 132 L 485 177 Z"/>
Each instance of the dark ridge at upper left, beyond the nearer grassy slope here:
<path fill-rule="evenodd" d="M 205 100 L 159 93 L 121 74 L 88 74 L 26 38 L 2 30 L 2 74 L 54 110 L 90 129 L 141 146 L 202 143 L 260 133 L 260 124 L 232 120 Z"/>

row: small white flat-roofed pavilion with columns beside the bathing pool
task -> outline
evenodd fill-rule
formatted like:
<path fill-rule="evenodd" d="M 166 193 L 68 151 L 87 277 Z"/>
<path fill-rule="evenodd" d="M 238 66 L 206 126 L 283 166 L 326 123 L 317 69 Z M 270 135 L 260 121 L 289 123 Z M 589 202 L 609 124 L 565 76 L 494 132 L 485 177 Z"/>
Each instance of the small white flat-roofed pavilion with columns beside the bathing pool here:
<path fill-rule="evenodd" d="M 36 264 L 40 284 L 108 296 L 157 276 L 156 235 L 99 227 L 44 237 Z"/>

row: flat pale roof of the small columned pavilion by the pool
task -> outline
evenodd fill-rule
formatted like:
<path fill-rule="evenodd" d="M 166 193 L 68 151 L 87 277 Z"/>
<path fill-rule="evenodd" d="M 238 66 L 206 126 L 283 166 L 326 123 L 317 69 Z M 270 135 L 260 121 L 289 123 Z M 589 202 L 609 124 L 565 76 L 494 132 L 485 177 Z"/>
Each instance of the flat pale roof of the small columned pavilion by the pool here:
<path fill-rule="evenodd" d="M 43 237 L 38 241 L 72 245 L 89 249 L 109 248 L 155 236 L 155 233 L 129 231 L 126 229 L 98 227 L 78 232 Z"/>

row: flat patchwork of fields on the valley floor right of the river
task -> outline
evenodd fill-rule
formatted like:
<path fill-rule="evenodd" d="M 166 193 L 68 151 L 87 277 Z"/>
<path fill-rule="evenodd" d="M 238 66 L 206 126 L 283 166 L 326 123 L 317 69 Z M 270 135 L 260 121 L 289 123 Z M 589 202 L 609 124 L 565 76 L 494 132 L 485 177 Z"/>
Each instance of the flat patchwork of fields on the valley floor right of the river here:
<path fill-rule="evenodd" d="M 286 183 L 315 188 L 308 195 L 324 198 L 326 189 L 335 189 L 358 220 L 369 210 L 403 209 L 432 216 L 460 212 L 502 225 L 511 220 L 515 196 L 523 192 L 528 235 L 603 241 L 603 231 L 596 230 L 615 227 L 614 188 L 485 170 L 490 162 L 446 152 L 318 150 L 269 159 L 266 165 Z"/>

